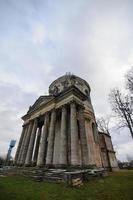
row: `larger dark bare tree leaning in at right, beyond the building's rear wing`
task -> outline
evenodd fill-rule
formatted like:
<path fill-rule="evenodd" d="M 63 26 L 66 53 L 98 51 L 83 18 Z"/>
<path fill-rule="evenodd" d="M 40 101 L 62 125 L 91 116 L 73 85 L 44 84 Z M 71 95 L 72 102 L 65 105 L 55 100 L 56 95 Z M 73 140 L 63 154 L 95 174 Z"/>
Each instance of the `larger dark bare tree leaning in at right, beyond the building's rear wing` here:
<path fill-rule="evenodd" d="M 123 96 L 118 89 L 113 89 L 109 94 L 109 101 L 119 121 L 119 127 L 127 127 L 133 137 L 132 98 L 129 95 Z"/>

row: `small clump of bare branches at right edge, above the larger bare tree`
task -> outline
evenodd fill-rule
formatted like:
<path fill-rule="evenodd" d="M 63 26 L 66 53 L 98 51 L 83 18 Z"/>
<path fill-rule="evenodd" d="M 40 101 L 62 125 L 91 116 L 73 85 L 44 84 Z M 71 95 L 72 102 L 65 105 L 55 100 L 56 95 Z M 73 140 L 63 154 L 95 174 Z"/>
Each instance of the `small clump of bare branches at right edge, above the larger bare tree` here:
<path fill-rule="evenodd" d="M 133 94 L 133 66 L 126 74 L 127 89 Z"/>

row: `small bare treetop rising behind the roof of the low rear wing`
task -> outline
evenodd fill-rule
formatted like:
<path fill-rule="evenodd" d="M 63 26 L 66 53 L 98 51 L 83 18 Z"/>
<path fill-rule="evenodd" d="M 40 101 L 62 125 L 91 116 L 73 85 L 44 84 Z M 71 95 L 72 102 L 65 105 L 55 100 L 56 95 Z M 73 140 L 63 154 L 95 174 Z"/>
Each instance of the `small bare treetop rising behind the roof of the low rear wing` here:
<path fill-rule="evenodd" d="M 106 119 L 103 117 L 97 118 L 98 129 L 103 133 L 109 134 L 109 123 L 110 123 L 110 116 L 107 116 Z"/>

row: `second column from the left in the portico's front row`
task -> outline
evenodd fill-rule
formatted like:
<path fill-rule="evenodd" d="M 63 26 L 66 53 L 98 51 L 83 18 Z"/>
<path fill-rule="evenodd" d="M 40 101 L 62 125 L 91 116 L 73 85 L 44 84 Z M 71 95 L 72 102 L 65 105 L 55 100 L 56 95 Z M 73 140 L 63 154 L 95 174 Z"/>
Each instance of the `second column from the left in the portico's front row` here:
<path fill-rule="evenodd" d="M 26 158 L 26 154 L 27 154 L 27 149 L 28 149 L 28 145 L 29 145 L 32 127 L 33 127 L 33 123 L 30 122 L 27 133 L 26 133 L 26 138 L 25 138 L 25 141 L 24 141 L 24 147 L 23 147 L 20 165 L 23 165 L 25 163 L 25 158 Z"/>

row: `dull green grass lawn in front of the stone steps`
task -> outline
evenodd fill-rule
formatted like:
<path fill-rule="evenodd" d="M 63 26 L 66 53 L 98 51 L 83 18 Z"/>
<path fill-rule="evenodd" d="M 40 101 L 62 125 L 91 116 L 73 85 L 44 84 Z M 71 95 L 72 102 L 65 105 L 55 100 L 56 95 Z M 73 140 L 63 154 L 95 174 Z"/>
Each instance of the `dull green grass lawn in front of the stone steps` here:
<path fill-rule="evenodd" d="M 80 188 L 0 177 L 0 200 L 133 200 L 133 170 L 114 172 Z"/>

